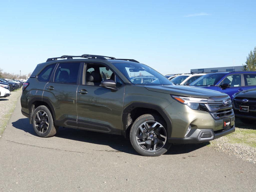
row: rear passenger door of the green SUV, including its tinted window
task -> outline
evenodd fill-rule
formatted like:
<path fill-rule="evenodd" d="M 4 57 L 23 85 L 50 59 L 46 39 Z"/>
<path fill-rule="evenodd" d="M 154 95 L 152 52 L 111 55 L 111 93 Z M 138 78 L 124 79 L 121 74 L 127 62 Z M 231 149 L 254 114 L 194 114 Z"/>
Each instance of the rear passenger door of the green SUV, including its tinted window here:
<path fill-rule="evenodd" d="M 43 98 L 55 110 L 54 122 L 58 126 L 77 129 L 76 93 L 80 77 L 80 62 L 57 63 L 50 82 L 45 86 Z"/>

